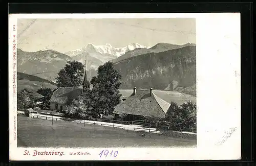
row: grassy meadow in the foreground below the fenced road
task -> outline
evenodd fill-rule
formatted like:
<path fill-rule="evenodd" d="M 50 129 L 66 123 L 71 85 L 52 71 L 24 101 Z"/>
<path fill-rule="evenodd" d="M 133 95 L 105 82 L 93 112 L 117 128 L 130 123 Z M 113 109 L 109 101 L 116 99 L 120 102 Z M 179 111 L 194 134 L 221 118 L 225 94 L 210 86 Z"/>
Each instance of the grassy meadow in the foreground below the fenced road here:
<path fill-rule="evenodd" d="M 191 147 L 196 140 L 134 132 L 100 125 L 47 121 L 18 115 L 18 147 Z"/>

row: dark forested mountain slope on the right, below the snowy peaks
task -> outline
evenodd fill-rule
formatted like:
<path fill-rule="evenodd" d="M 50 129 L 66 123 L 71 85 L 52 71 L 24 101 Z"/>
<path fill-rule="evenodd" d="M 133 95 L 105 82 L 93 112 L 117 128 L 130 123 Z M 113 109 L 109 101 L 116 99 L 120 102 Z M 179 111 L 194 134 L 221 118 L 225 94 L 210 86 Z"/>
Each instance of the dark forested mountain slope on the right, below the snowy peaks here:
<path fill-rule="evenodd" d="M 122 76 L 121 89 L 175 90 L 196 84 L 196 46 L 146 53 L 114 63 Z"/>

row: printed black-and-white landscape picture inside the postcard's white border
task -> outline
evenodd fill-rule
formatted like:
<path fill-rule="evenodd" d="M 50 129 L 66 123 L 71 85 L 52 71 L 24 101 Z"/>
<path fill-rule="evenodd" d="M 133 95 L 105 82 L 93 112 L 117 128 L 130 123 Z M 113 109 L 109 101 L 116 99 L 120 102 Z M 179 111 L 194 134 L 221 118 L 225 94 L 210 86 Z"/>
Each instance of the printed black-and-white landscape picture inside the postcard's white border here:
<path fill-rule="evenodd" d="M 196 146 L 196 19 L 18 19 L 18 147 Z"/>

